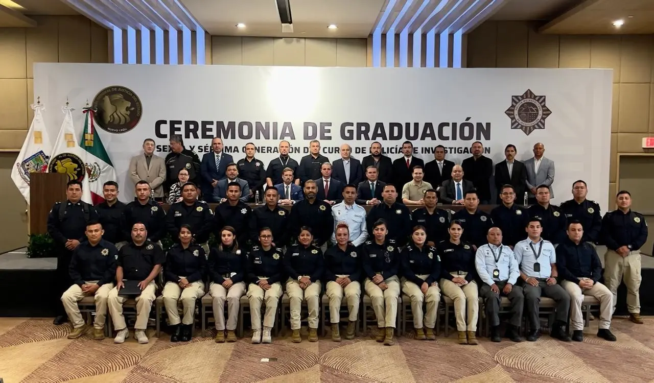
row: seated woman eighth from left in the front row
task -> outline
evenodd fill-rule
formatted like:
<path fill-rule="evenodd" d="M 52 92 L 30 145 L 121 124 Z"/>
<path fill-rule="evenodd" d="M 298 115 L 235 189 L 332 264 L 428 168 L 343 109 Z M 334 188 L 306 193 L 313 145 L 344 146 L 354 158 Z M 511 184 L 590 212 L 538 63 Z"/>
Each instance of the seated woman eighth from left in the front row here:
<path fill-rule="evenodd" d="M 400 252 L 395 240 L 386 238 L 387 233 L 386 221 L 375 221 L 372 229 L 374 239 L 362 245 L 362 263 L 367 277 L 364 288 L 377 317 L 375 341 L 390 346 L 394 343 L 393 333 L 398 316 Z"/>

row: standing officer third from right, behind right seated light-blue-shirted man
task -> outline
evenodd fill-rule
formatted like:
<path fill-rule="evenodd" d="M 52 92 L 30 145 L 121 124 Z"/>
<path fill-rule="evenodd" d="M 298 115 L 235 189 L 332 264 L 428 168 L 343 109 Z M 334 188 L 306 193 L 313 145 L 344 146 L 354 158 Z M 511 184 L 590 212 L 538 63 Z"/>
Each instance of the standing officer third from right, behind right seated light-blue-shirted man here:
<path fill-rule="evenodd" d="M 531 218 L 538 218 L 542 224 L 543 233 L 541 237 L 545 241 L 558 245 L 566 239 L 566 225 L 568 220 L 563 210 L 555 205 L 550 205 L 550 191 L 546 185 L 536 188 L 536 205 L 530 206 L 527 210 Z"/>

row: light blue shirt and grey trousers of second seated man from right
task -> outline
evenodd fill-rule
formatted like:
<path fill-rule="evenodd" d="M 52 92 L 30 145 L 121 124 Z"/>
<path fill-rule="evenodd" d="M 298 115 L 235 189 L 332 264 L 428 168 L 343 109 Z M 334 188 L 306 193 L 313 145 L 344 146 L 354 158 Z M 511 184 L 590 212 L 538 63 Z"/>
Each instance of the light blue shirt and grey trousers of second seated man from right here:
<path fill-rule="evenodd" d="M 544 239 L 533 242 L 527 238 L 515 244 L 513 254 L 518 261 L 520 271 L 527 277 L 535 278 L 538 281 L 538 286 L 532 286 L 526 283 L 526 280 L 522 284 L 529 328 L 532 331 L 540 329 L 540 318 L 538 317 L 540 297 L 549 297 L 557 303 L 556 320 L 558 323 L 554 324 L 552 329 L 555 333 L 557 328 L 560 329 L 568 322 L 570 296 L 558 284 L 547 284 L 547 278 L 552 276 L 551 265 L 557 263 L 554 245 Z"/>

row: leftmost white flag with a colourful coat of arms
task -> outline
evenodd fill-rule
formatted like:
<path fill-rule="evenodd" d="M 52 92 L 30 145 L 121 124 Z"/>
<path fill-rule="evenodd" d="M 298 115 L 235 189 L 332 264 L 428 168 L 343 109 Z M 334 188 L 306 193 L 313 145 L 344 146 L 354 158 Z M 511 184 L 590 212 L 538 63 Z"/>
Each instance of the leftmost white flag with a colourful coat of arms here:
<path fill-rule="evenodd" d="M 48 138 L 48 131 L 43 122 L 41 110 L 43 105 L 31 105 L 34 109 L 34 118 L 29 125 L 27 137 L 16 158 L 16 165 L 11 169 L 11 179 L 18 191 L 29 203 L 29 173 L 45 173 L 48 171 L 48 160 L 52 152 L 52 144 Z"/>

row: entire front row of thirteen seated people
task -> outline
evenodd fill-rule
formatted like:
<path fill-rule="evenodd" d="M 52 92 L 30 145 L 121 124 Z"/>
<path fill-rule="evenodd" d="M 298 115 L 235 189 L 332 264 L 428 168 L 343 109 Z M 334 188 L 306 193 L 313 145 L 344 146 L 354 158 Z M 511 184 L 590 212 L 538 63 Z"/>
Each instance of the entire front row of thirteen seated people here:
<path fill-rule="evenodd" d="M 435 339 L 434 327 L 442 293 L 453 300 L 460 344 L 477 344 L 479 297 L 485 299 L 490 339 L 501 341 L 498 313 L 504 296 L 508 297 L 510 306 L 505 337 L 511 341 L 522 340 L 519 327 L 523 307 L 529 326 L 526 339 L 538 339 L 541 296 L 551 297 L 557 303 L 551 336 L 561 341 L 571 340 L 564 330 L 569 310 L 572 340 L 583 341 L 583 295 L 600 301 L 598 337 L 615 341 L 610 331 L 613 295 L 598 282 L 602 266 L 593 246 L 581 241 L 583 229 L 579 222 L 568 223 L 568 238 L 555 249 L 551 242 L 540 238 L 540 220 L 531 219 L 525 229 L 527 239 L 518 242 L 513 250 L 502 244 L 502 231 L 498 227 L 489 229 L 487 244 L 479 248 L 462 242 L 463 228 L 456 220 L 449 225 L 448 241 L 441 241 L 436 247 L 428 246 L 424 227 L 417 225 L 411 230 L 409 244 L 400 249 L 394 240 L 387 239 L 387 226 L 385 220 L 377 220 L 371 240 L 355 247 L 349 241 L 347 225 L 338 224 L 336 245 L 324 254 L 313 244 L 310 227 L 301 227 L 298 244 L 288 246 L 286 252 L 275 248 L 271 229 L 262 228 L 258 244 L 246 252 L 239 248 L 233 227 L 226 226 L 220 231 L 220 244 L 205 256 L 202 246 L 192 240 L 194 233 L 189 225 L 181 225 L 179 241 L 164 255 L 158 244 L 147 239 L 145 225 L 141 223 L 133 225 L 131 242 L 118 251 L 114 244 L 102 239 L 101 224 L 89 222 L 87 241 L 75 249 L 70 263 L 69 272 L 75 284 L 61 296 L 73 325 L 68 338 L 78 338 L 88 331 L 77 302 L 85 296 L 94 296 L 93 338 L 104 338 L 108 308 L 117 331 L 114 342 L 124 342 L 129 335 L 123 316 L 123 304 L 128 297 L 121 295 L 120 289 L 124 287 L 124 280 L 134 280 L 140 281 L 141 289 L 141 294 L 135 297 L 134 337 L 139 343 L 148 342 L 145 329 L 163 265 L 162 298 L 173 329 L 171 342 L 192 338 L 196 301 L 205 291 L 212 297 L 216 342 L 237 340 L 235 329 L 243 295 L 247 295 L 250 303 L 252 342 L 271 342 L 283 282 L 290 304 L 293 342 L 301 342 L 303 301 L 308 310 L 308 339 L 318 340 L 323 284 L 329 299 L 332 340 L 341 341 L 339 324 L 343 299 L 349 313 L 344 337 L 353 339 L 361 282 L 377 318 L 375 339 L 388 345 L 394 343 L 400 291 L 410 299 L 416 339 Z M 205 278 L 209 282 L 208 291 Z M 226 301 L 227 322 L 224 318 Z"/>

